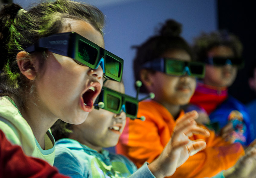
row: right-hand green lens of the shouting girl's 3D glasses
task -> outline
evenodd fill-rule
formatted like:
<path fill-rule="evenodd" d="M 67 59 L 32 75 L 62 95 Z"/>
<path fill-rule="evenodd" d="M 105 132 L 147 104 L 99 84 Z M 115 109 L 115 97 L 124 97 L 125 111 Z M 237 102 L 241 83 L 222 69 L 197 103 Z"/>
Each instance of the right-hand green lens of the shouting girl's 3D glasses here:
<path fill-rule="evenodd" d="M 106 72 L 120 77 L 121 63 L 107 54 L 105 55 L 105 62 Z"/>

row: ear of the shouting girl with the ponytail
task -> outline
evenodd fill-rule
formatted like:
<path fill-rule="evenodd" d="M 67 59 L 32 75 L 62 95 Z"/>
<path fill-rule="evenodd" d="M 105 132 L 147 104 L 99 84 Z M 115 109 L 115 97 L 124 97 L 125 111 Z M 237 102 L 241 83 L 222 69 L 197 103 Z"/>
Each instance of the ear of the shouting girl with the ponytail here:
<path fill-rule="evenodd" d="M 27 52 L 20 51 L 16 56 L 16 61 L 21 73 L 29 80 L 34 80 L 37 74 L 35 60 L 31 59 Z"/>

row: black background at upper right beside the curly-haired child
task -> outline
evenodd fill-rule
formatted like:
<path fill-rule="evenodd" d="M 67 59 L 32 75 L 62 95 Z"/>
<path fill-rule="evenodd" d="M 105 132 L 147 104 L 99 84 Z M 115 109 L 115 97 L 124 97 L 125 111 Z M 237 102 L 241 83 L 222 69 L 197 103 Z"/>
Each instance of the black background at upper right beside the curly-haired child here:
<path fill-rule="evenodd" d="M 256 1 L 218 0 L 219 29 L 226 29 L 239 37 L 243 44 L 245 67 L 238 71 L 229 94 L 248 103 L 255 100 L 255 91 L 248 85 L 250 72 L 256 61 Z"/>

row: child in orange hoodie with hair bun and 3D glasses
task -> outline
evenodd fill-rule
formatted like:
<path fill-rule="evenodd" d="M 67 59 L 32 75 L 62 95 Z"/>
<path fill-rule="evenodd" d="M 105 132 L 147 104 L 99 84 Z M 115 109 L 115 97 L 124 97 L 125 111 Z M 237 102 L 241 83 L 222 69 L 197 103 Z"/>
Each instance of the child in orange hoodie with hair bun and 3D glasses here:
<path fill-rule="evenodd" d="M 168 20 L 159 35 L 137 49 L 134 73 L 143 83 L 140 92 L 154 92 L 155 98 L 139 103 L 138 117 L 145 116 L 146 120 L 127 120 L 116 150 L 138 167 L 162 152 L 176 120 L 184 115 L 182 106 L 195 91 L 195 77 L 204 75 L 202 64 L 191 62 L 192 52 L 180 33 L 181 24 Z M 206 141 L 206 148 L 191 156 L 171 177 L 211 177 L 235 165 L 244 154 L 240 143 L 230 144 L 213 131 L 208 138 L 193 135 L 190 139 L 199 138 Z"/>

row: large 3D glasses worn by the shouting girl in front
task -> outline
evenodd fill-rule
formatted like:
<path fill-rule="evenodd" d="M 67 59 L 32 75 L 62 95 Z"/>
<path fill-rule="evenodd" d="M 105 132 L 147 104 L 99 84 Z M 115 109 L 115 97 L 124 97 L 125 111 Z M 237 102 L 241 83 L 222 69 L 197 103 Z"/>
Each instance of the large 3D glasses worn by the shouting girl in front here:
<path fill-rule="evenodd" d="M 38 48 L 47 48 L 50 52 L 74 59 L 81 65 L 97 69 L 99 65 L 105 78 L 121 81 L 123 74 L 123 59 L 101 48 L 97 44 L 75 32 L 57 33 L 43 37 L 36 44 L 27 47 L 27 52 Z"/>

